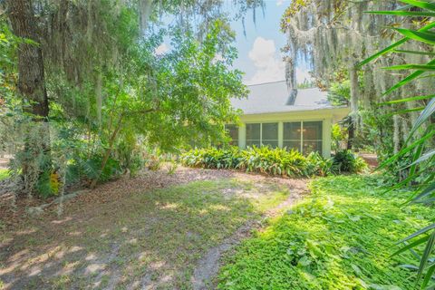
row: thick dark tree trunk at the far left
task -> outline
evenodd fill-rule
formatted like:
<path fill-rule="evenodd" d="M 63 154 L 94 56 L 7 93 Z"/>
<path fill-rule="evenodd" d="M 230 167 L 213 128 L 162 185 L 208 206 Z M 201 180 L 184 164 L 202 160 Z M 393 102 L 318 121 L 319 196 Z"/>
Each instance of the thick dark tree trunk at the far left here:
<path fill-rule="evenodd" d="M 6 4 L 14 34 L 25 40 L 19 44 L 18 49 L 17 86 L 23 99 L 24 111 L 32 115 L 30 128 L 26 131 L 27 136 L 24 136 L 25 157 L 22 160 L 24 189 L 30 194 L 30 191 L 34 191 L 38 179 L 35 177 L 39 177 L 50 164 L 49 109 L 43 72 L 43 53 L 36 33 L 38 24 L 32 1 L 7 0 Z M 27 182 L 29 176 L 32 178 Z"/>

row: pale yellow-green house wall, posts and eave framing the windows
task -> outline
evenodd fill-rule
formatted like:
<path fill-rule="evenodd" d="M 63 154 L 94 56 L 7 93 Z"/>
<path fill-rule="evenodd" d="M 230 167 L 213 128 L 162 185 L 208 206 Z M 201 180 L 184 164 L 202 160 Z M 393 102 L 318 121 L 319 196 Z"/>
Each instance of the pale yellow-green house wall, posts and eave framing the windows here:
<path fill-rule="evenodd" d="M 247 148 L 247 123 L 278 123 L 278 147 L 283 147 L 283 124 L 286 121 L 322 121 L 322 153 L 331 157 L 331 126 L 342 120 L 350 112 L 349 108 L 334 108 L 315 111 L 289 111 L 279 113 L 261 113 L 242 115 L 238 123 L 238 147 Z"/>

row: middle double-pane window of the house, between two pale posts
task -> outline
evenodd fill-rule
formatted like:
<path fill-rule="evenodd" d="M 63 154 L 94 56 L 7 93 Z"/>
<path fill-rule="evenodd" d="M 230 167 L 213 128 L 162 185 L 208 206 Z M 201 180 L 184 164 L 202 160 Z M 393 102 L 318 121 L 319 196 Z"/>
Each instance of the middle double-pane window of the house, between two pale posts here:
<path fill-rule="evenodd" d="M 278 123 L 247 124 L 247 146 L 278 147 Z"/>

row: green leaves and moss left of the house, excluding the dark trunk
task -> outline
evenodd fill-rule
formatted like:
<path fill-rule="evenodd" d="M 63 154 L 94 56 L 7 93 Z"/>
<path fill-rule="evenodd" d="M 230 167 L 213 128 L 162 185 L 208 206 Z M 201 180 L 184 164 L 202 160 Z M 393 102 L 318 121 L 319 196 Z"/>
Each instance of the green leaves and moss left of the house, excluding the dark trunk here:
<path fill-rule="evenodd" d="M 258 4 L 240 2 L 240 8 L 245 13 Z M 140 31 L 137 6 L 112 0 L 38 6 L 43 33 L 41 43 L 34 45 L 41 46 L 44 58 L 50 105 L 44 130 L 51 136 L 44 140 L 47 146 L 34 148 L 24 145 L 30 138 L 42 144 L 35 138 L 41 134 L 28 136 L 23 124 L 33 116 L 24 113 L 28 104 L 15 95 L 16 48 L 25 40 L 16 39 L 7 14 L 0 15 L 0 133 L 8 138 L 0 140 L 0 147 L 8 143 L 22 149 L 13 170 L 36 185 L 27 189 L 43 196 L 56 194 L 51 190 L 53 172 L 64 179 L 61 187 L 93 187 L 122 173 L 134 176 L 143 166 L 159 169 L 160 154 L 146 154 L 144 148 L 178 151 L 188 148 L 191 140 L 201 146 L 225 140 L 223 124 L 238 116 L 229 98 L 245 97 L 247 88 L 242 73 L 232 69 L 235 34 L 227 17 L 215 13 L 215 5 L 201 8 L 203 14 L 214 11 L 201 32 L 196 25 L 163 26 L 155 14 L 150 29 Z M 198 13 L 195 3 L 165 2 L 164 11 L 157 6 L 152 4 L 152 10 L 160 14 Z M 68 21 L 59 24 L 65 15 Z M 155 53 L 168 41 L 169 52 Z M 41 160 L 41 152 L 50 152 L 52 160 Z M 40 161 L 47 166 L 36 172 Z"/>

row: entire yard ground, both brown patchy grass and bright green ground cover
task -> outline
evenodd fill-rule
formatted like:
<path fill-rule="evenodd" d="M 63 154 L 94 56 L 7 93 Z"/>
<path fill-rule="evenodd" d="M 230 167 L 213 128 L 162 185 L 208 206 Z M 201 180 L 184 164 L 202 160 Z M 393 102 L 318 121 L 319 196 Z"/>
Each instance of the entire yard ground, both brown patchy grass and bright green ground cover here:
<path fill-rule="evenodd" d="M 415 260 L 391 253 L 431 210 L 401 207 L 407 193 L 376 176 L 314 179 L 303 195 L 300 179 L 153 174 L 0 228 L 0 289 L 412 288 L 401 265 Z"/>

